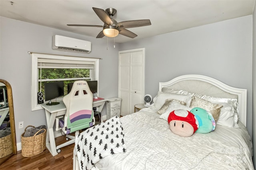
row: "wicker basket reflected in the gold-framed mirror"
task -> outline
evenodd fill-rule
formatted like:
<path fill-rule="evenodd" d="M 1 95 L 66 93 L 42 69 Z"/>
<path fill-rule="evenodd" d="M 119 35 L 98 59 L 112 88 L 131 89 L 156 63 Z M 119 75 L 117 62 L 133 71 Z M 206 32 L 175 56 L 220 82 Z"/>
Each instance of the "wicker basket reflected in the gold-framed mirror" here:
<path fill-rule="evenodd" d="M 0 158 L 3 158 L 13 152 L 12 150 L 12 135 L 7 135 L 0 138 Z"/>

